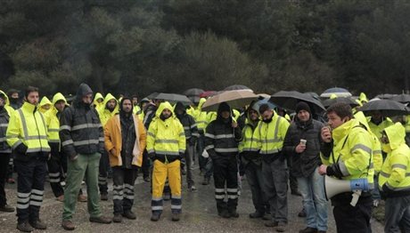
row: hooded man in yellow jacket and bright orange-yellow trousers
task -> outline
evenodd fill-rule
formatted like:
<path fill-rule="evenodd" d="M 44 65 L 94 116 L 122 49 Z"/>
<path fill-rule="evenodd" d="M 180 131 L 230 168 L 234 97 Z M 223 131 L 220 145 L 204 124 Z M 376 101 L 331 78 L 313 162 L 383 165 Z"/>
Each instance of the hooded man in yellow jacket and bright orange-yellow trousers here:
<path fill-rule="evenodd" d="M 169 102 L 160 104 L 147 136 L 148 156 L 153 161 L 152 217 L 159 221 L 162 213 L 162 192 L 168 178 L 171 188 L 172 221 L 179 221 L 182 209 L 181 158 L 185 152 L 184 127 L 176 119 Z"/>

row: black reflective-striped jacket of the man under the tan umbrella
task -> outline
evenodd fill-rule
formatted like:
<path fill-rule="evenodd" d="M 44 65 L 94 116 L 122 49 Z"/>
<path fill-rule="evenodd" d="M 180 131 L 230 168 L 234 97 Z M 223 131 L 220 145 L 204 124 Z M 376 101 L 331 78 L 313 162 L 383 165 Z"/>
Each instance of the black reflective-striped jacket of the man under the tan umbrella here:
<path fill-rule="evenodd" d="M 238 143 L 242 140 L 241 128 L 232 127 L 231 117 L 225 123 L 221 116 L 220 108 L 217 109 L 217 119 L 212 121 L 205 133 L 205 149 L 209 157 L 215 159 L 217 156 L 233 156 L 238 154 Z"/>

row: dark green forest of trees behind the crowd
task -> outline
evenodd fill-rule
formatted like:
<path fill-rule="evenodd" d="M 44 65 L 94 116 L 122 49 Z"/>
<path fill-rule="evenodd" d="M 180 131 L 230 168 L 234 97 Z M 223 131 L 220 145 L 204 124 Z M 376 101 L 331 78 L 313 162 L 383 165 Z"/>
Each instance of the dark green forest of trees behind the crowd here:
<path fill-rule="evenodd" d="M 407 0 L 4 0 L 0 89 L 409 90 Z"/>

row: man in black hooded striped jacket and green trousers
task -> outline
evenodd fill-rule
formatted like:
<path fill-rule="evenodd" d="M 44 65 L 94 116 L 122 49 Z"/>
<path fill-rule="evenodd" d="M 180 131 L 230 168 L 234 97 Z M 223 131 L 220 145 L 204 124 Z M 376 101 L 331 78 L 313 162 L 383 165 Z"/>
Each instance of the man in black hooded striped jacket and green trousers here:
<path fill-rule="evenodd" d="M 76 211 L 78 190 L 86 175 L 89 221 L 111 223 L 102 217 L 98 197 L 98 165 L 104 149 L 103 130 L 97 111 L 91 107 L 93 91 L 80 84 L 76 100 L 62 112 L 60 139 L 67 162 L 67 184 L 64 189 L 64 208 L 61 227 L 75 229 L 72 215 Z"/>

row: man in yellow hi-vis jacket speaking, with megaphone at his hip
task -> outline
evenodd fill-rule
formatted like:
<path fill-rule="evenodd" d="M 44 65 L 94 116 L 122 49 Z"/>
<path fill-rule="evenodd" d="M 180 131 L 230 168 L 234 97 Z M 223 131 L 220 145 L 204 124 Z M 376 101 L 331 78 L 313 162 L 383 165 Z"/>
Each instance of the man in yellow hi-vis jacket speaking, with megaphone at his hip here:
<path fill-rule="evenodd" d="M 349 183 L 346 189 L 339 189 L 337 194 L 332 194 L 337 230 L 371 232 L 373 200 L 368 189 L 373 185 L 373 174 L 369 173 L 372 163 L 372 136 L 365 126 L 353 117 L 352 110 L 346 103 L 332 104 L 327 108 L 326 114 L 329 126 L 324 126 L 321 130 L 323 165 L 320 165 L 319 173 Z M 327 194 L 328 191 L 326 189 Z"/>

